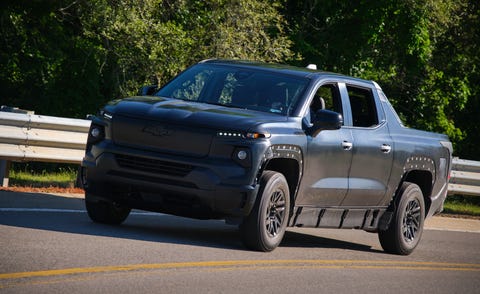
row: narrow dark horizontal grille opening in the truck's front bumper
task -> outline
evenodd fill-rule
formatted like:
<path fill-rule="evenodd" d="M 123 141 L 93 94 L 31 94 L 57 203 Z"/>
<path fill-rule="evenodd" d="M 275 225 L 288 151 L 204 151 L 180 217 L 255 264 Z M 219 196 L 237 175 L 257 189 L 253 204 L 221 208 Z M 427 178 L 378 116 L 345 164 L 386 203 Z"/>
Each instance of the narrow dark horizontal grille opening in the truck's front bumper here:
<path fill-rule="evenodd" d="M 121 154 L 117 154 L 115 157 L 121 167 L 149 173 L 184 177 L 193 170 L 193 166 L 189 164 Z"/>

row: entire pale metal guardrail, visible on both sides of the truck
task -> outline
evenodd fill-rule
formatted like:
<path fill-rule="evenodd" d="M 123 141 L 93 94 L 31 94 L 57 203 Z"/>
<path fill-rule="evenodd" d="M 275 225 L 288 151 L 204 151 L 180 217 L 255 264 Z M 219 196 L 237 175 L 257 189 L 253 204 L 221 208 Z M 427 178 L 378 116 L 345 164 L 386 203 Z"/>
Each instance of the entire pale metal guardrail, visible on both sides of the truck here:
<path fill-rule="evenodd" d="M 79 164 L 89 128 L 89 120 L 0 111 L 0 184 L 10 160 Z M 480 196 L 479 161 L 453 159 L 448 194 Z"/>

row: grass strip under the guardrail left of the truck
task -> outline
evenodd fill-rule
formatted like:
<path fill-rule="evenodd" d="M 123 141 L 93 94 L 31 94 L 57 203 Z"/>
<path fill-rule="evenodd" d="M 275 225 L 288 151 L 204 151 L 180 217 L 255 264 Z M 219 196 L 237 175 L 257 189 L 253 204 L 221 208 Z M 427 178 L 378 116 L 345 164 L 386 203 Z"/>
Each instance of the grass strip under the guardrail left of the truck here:
<path fill-rule="evenodd" d="M 31 172 L 10 170 L 10 186 L 18 187 L 59 187 L 73 188 L 77 180 L 77 170 L 60 168 L 56 172 Z"/>

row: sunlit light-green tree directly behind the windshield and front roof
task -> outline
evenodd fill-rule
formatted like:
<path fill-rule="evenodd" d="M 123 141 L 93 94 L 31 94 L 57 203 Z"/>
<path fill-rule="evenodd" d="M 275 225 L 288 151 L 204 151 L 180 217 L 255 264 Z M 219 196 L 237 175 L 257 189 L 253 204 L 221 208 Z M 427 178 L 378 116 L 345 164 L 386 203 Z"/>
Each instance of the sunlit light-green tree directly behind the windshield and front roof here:
<path fill-rule="evenodd" d="M 276 6 L 256 1 L 90 1 L 84 34 L 101 44 L 118 96 L 152 76 L 160 84 L 202 59 L 280 61 L 292 56 Z"/>

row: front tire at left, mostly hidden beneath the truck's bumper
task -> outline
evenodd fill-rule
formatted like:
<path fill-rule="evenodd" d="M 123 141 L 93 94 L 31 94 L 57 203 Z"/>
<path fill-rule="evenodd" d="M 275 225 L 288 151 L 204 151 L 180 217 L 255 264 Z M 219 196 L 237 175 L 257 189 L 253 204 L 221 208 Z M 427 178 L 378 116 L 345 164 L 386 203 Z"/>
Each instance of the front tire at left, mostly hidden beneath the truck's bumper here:
<path fill-rule="evenodd" d="M 93 200 L 85 193 L 85 206 L 90 219 L 96 223 L 118 225 L 130 214 L 130 208 L 116 205 L 113 202 Z"/>

